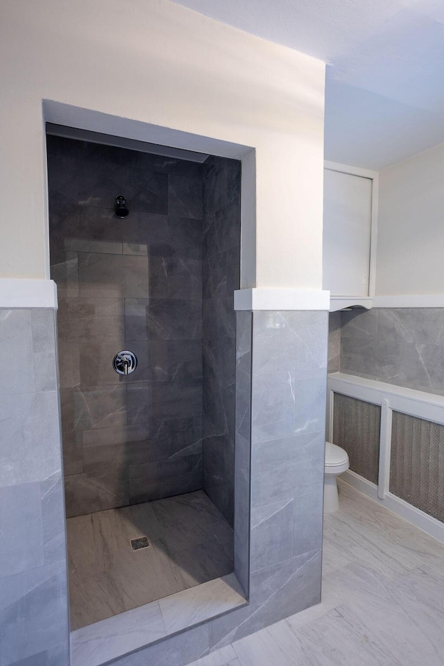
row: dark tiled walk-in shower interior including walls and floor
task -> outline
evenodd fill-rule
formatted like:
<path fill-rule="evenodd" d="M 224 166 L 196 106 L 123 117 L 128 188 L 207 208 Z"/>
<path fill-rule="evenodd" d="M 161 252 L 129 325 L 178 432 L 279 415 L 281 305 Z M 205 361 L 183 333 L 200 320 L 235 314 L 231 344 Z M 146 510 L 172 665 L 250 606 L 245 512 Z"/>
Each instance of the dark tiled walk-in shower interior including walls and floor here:
<path fill-rule="evenodd" d="M 241 164 L 67 134 L 47 155 L 74 630 L 234 570 Z"/>

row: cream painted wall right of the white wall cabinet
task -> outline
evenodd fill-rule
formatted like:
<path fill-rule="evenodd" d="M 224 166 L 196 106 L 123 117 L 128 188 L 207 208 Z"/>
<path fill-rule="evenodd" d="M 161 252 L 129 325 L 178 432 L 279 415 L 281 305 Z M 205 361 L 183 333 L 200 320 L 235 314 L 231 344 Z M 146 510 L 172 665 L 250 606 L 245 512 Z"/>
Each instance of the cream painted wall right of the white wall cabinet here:
<path fill-rule="evenodd" d="M 444 293 L 444 144 L 379 173 L 376 293 Z"/>

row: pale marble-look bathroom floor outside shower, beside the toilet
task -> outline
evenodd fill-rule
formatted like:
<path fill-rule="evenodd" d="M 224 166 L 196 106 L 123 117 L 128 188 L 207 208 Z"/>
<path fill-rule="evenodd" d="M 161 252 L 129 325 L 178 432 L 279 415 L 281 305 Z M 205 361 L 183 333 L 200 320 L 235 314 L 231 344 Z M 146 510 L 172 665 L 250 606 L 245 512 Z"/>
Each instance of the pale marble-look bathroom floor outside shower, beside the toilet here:
<path fill-rule="evenodd" d="M 342 481 L 339 504 L 324 516 L 321 604 L 210 664 L 443 666 L 444 544 Z"/>

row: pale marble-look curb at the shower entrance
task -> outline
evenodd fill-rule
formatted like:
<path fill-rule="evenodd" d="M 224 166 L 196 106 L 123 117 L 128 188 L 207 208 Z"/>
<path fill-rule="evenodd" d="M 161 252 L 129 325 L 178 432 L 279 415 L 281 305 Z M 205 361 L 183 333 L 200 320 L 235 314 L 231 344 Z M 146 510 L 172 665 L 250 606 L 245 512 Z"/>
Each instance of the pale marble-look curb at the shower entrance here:
<path fill-rule="evenodd" d="M 105 666 L 247 604 L 234 573 L 176 592 L 71 631 L 71 666 Z"/>

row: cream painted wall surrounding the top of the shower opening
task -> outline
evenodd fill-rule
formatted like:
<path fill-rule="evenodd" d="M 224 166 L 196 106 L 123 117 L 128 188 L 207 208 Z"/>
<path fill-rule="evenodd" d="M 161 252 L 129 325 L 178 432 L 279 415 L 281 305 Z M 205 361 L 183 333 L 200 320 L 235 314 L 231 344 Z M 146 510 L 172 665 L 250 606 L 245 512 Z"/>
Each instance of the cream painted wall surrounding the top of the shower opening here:
<path fill-rule="evenodd" d="M 0 275 L 49 277 L 49 99 L 103 114 L 105 132 L 152 140 L 152 123 L 255 148 L 239 148 L 257 193 L 242 286 L 321 289 L 323 62 L 167 0 L 3 0 L 0 85 Z"/>

